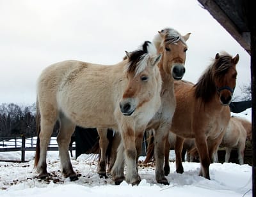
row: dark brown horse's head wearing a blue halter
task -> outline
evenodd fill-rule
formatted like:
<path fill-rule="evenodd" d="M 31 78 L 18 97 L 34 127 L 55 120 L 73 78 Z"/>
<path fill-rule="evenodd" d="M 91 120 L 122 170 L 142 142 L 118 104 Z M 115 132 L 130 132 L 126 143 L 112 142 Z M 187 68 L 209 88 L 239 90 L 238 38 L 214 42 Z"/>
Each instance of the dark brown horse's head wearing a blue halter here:
<path fill-rule="evenodd" d="M 213 64 L 213 78 L 221 105 L 229 105 L 236 87 L 236 64 L 239 55 L 232 58 L 228 54 L 216 54 Z"/>

